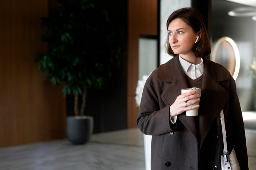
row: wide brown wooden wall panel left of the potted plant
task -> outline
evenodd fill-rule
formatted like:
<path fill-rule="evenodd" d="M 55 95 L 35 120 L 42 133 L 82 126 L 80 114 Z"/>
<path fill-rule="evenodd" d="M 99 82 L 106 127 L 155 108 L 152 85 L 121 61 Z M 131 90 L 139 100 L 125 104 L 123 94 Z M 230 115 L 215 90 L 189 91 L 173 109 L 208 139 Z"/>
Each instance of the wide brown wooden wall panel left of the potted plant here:
<path fill-rule="evenodd" d="M 0 147 L 65 137 L 65 98 L 34 62 L 48 0 L 0 1 Z"/>

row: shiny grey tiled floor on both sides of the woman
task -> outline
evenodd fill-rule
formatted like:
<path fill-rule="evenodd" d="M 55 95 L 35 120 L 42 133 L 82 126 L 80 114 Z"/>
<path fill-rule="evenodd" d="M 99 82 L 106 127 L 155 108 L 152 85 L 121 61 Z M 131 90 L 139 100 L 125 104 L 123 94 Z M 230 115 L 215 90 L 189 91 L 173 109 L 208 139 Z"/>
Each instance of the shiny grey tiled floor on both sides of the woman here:
<path fill-rule="evenodd" d="M 250 170 L 256 170 L 256 130 L 246 129 Z M 0 170 L 145 170 L 137 128 L 94 134 L 85 145 L 67 140 L 0 148 Z"/>

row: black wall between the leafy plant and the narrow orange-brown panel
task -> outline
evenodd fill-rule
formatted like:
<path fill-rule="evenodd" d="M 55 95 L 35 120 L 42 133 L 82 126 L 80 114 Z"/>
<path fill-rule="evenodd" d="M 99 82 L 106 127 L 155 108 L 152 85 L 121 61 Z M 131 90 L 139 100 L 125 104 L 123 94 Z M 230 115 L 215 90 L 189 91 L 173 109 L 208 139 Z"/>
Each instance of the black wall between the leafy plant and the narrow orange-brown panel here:
<path fill-rule="evenodd" d="M 127 128 L 127 0 L 101 0 L 111 22 L 112 30 L 121 32 L 116 41 L 121 40 L 120 64 L 113 68 L 111 79 L 103 89 L 90 89 L 85 114 L 94 117 L 94 133 Z M 104 28 L 99 34 L 104 34 Z M 100 46 L 104 39 L 95 39 Z M 67 97 L 67 115 L 72 115 L 73 98 Z"/>

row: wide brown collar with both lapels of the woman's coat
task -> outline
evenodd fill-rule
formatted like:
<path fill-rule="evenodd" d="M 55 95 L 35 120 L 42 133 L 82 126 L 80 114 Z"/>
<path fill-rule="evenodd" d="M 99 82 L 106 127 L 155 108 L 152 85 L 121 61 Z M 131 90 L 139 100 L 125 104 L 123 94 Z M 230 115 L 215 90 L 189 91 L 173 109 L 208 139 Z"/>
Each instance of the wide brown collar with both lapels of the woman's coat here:
<path fill-rule="evenodd" d="M 227 73 L 224 67 L 204 58 L 204 73 L 201 87 L 202 96 L 199 107 L 199 135 L 201 141 L 206 137 L 211 124 L 227 103 L 229 97 L 228 92 L 219 82 L 227 81 L 229 78 L 230 74 Z M 190 88 L 178 56 L 159 66 L 157 79 L 162 82 L 170 82 L 170 85 L 162 93 L 162 100 L 166 105 L 173 104 L 177 96 L 181 94 L 181 89 Z M 191 119 L 185 113 L 180 114 L 178 119 L 197 136 L 195 125 L 191 123 Z"/>

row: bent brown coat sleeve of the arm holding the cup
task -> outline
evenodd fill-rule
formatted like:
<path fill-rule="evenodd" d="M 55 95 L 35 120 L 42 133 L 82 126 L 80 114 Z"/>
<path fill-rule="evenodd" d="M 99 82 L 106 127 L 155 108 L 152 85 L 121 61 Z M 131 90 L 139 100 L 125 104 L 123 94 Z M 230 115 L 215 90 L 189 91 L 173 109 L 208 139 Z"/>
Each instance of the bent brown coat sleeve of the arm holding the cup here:
<path fill-rule="evenodd" d="M 152 75 L 150 78 L 152 79 Z M 176 125 L 170 124 L 170 105 L 160 109 L 161 88 L 152 82 L 147 80 L 145 83 L 136 123 L 140 131 L 146 135 L 161 135 L 173 131 L 171 127 Z"/>

